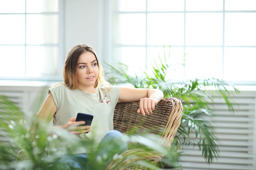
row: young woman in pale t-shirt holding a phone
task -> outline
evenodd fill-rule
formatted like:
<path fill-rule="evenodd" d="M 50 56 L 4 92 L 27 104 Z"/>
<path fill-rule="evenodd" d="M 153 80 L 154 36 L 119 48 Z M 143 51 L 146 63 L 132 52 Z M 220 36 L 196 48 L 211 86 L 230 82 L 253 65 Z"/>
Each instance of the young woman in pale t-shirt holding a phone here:
<path fill-rule="evenodd" d="M 52 119 L 54 126 L 68 129 L 77 136 L 83 134 L 88 139 L 95 136 L 97 144 L 121 136 L 113 130 L 117 103 L 140 101 L 137 112 L 145 115 L 152 114 L 155 105 L 163 98 L 162 91 L 157 89 L 110 86 L 104 79 L 96 52 L 88 44 L 77 44 L 70 49 L 63 77 L 64 83 L 49 89 L 36 117 L 45 122 Z M 91 126 L 79 126 L 85 122 L 75 121 L 77 113 L 93 115 Z"/>

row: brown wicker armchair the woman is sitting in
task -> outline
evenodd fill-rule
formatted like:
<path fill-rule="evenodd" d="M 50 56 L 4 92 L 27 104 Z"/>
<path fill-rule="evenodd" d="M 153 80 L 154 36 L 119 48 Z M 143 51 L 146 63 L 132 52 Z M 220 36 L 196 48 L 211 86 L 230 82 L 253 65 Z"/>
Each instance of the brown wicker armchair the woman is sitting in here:
<path fill-rule="evenodd" d="M 116 106 L 114 115 L 114 129 L 120 130 L 121 132 L 129 132 L 135 126 L 138 127 L 138 132 L 141 130 L 149 131 L 151 133 L 159 134 L 162 136 L 159 141 L 159 145 L 166 146 L 168 149 L 171 146 L 171 142 L 176 135 L 177 129 L 180 126 L 182 118 L 182 103 L 179 99 L 170 97 L 162 99 L 152 115 L 142 116 L 137 113 L 139 108 L 139 102 L 130 103 L 119 103 Z M 139 160 L 150 160 L 152 164 L 157 164 L 164 155 L 155 152 L 145 152 L 144 150 L 131 149 L 122 153 L 123 157 L 127 155 L 143 155 L 141 157 L 132 157 L 132 159 Z M 148 168 L 139 167 L 128 167 L 129 161 L 120 162 L 121 159 L 112 161 L 106 168 L 106 170 L 147 170 Z M 130 160 L 132 161 L 132 160 Z M 134 160 L 133 160 L 134 161 Z M 122 167 L 118 166 L 122 165 Z"/>

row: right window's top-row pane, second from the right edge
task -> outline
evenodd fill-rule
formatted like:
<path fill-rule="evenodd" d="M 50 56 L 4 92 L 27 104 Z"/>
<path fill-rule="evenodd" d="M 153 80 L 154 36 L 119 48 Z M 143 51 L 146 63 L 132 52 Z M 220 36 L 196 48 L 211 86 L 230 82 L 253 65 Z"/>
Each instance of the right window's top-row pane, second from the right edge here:
<path fill-rule="evenodd" d="M 223 0 L 186 0 L 186 11 L 222 11 Z"/>

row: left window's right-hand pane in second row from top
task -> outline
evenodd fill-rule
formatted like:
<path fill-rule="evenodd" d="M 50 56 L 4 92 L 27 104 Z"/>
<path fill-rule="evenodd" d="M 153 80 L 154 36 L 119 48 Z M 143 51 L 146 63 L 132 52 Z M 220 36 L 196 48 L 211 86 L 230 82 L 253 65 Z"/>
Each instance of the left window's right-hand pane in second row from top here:
<path fill-rule="evenodd" d="M 58 43 L 58 15 L 27 15 L 27 44 L 47 43 Z"/>

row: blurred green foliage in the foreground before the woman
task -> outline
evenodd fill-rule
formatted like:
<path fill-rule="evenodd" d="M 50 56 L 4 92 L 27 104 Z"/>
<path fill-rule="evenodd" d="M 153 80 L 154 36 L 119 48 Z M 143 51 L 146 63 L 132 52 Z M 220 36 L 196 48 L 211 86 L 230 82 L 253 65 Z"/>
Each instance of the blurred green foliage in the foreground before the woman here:
<path fill-rule="evenodd" d="M 57 127 L 49 128 L 48 124 L 43 124 L 37 119 L 30 124 L 20 108 L 5 96 L 0 96 L 0 116 L 0 130 L 5 132 L 4 138 L 8 139 L 8 141 L 0 140 L 1 170 L 65 170 L 58 160 L 63 155 L 73 156 L 76 150 L 80 149 L 88 150 L 90 153 L 86 169 L 101 170 L 108 165 L 107 161 L 111 158 L 111 153 L 102 155 L 99 152 L 105 147 L 116 148 L 115 143 L 109 143 L 95 152 L 93 137 L 91 140 L 79 138 L 70 134 L 68 130 Z M 32 130 L 28 130 L 29 127 L 33 127 Z M 148 159 L 148 151 L 152 152 L 151 154 L 160 155 L 167 153 L 166 148 L 157 145 L 158 135 L 149 133 L 135 135 L 130 132 L 125 137 L 129 144 L 139 146 L 139 149 L 137 147 L 124 155 L 114 155 L 114 163 L 109 163 L 108 170 L 119 170 L 129 166 L 148 167 L 152 170 L 162 169 L 153 165 Z M 23 160 L 22 155 L 17 157 L 20 150 L 28 158 L 27 160 Z"/>

